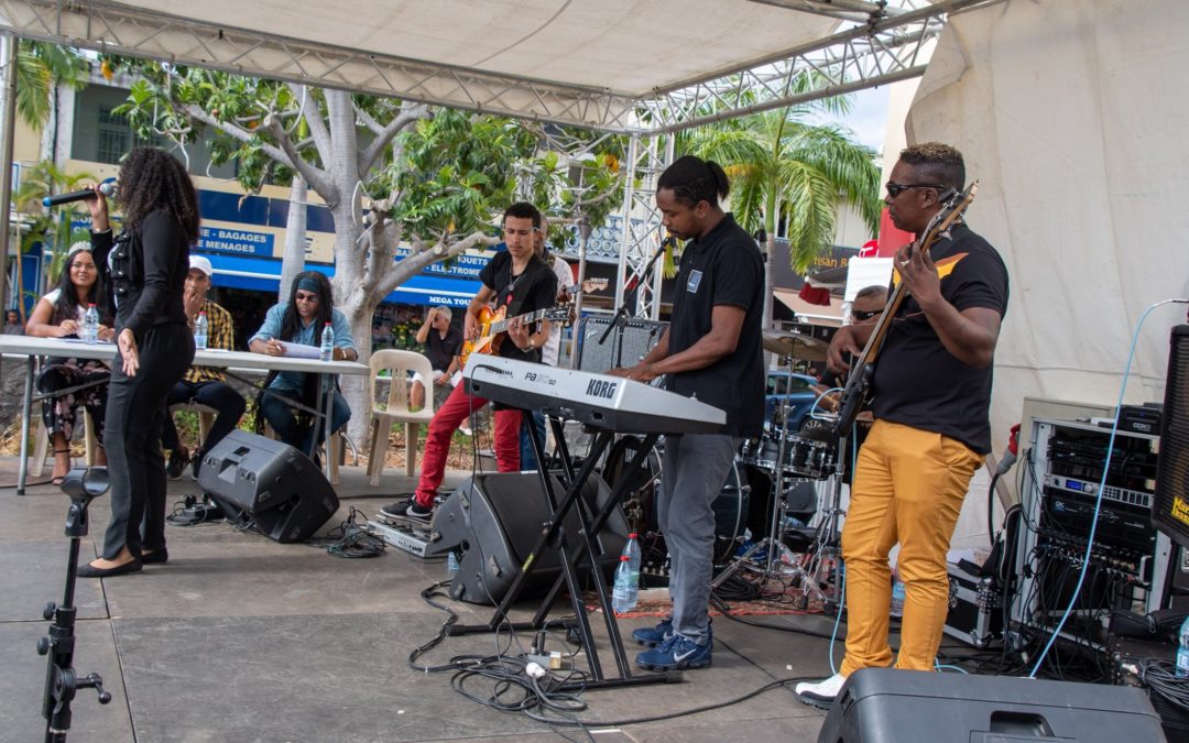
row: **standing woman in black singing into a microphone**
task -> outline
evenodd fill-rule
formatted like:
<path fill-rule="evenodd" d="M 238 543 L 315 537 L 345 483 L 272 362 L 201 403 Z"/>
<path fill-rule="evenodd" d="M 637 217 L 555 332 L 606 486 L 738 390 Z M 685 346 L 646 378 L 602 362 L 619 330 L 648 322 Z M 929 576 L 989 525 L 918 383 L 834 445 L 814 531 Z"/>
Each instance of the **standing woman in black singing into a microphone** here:
<path fill-rule="evenodd" d="M 87 200 L 95 263 L 114 303 L 119 353 L 112 363 L 103 446 L 112 484 L 112 521 L 103 553 L 78 567 L 107 578 L 165 562 L 165 459 L 161 427 L 170 388 L 194 360 L 182 309 L 199 202 L 190 176 L 164 150 L 133 150 L 120 168 L 124 231 L 112 238 L 107 199 Z M 141 536 L 141 522 L 144 534 Z"/>

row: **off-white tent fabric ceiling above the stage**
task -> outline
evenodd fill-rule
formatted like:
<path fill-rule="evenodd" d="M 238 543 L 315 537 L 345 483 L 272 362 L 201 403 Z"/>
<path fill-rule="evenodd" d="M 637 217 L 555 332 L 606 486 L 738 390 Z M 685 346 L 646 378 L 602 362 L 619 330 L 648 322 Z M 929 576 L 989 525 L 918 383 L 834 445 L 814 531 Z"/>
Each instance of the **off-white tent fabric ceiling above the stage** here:
<path fill-rule="evenodd" d="M 779 58 L 838 20 L 751 0 L 133 0 L 128 7 L 625 97 Z"/>

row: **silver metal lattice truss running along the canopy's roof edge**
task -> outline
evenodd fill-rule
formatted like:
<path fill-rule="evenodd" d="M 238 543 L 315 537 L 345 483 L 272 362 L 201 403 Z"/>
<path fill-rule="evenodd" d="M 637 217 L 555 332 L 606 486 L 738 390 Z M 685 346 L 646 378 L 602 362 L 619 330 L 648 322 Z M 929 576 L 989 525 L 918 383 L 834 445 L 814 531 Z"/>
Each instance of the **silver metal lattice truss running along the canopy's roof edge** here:
<path fill-rule="evenodd" d="M 201 23 L 111 0 L 0 0 L 0 31 L 81 49 L 625 134 L 660 134 L 919 76 L 948 13 L 1001 0 L 757 0 L 862 25 L 647 99 Z M 899 6 L 899 7 L 895 7 Z M 904 10 L 905 7 L 910 10 Z M 792 93 L 813 73 L 816 88 Z"/>

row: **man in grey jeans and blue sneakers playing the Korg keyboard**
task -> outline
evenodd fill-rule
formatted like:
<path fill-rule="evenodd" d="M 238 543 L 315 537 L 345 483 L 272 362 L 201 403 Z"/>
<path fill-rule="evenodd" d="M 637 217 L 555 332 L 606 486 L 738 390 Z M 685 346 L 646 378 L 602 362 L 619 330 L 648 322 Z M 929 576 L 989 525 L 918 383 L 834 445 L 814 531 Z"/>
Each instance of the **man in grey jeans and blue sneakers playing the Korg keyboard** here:
<path fill-rule="evenodd" d="M 672 558 L 673 613 L 633 632 L 650 648 L 636 656 L 636 665 L 652 670 L 710 666 L 711 503 L 741 439 L 759 436 L 763 420 L 763 260 L 718 203 L 729 188 L 717 163 L 697 157 L 682 157 L 661 174 L 656 207 L 669 233 L 688 240 L 672 323 L 638 365 L 610 372 L 640 382 L 668 374 L 673 392 L 726 413 L 719 433 L 665 440 L 656 511 Z"/>

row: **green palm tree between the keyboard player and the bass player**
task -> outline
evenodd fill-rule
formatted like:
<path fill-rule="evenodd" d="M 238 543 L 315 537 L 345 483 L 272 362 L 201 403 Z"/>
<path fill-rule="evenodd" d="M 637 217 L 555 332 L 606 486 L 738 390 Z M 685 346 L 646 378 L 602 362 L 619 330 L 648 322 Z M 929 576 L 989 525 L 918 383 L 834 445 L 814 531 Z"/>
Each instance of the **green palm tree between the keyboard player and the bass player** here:
<path fill-rule="evenodd" d="M 845 111 L 844 99 L 692 130 L 679 150 L 712 159 L 731 180 L 731 210 L 748 232 L 763 228 L 770 262 L 776 226 L 787 225 L 789 263 L 804 272 L 830 247 L 838 208 L 854 206 L 874 234 L 881 201 L 876 153 L 838 125 L 810 121 L 816 111 Z M 773 271 L 765 277 L 765 325 L 772 320 Z"/>

